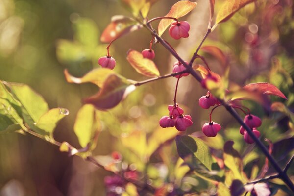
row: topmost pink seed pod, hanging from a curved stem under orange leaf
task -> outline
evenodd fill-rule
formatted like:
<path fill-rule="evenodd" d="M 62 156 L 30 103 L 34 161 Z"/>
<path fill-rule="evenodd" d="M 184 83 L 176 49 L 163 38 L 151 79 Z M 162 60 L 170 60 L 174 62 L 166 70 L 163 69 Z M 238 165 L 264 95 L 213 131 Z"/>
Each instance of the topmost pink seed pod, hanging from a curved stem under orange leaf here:
<path fill-rule="evenodd" d="M 172 38 L 178 40 L 180 38 L 187 38 L 189 37 L 189 30 L 190 25 L 187 21 L 181 21 L 181 22 L 173 22 L 170 29 L 169 34 Z"/>

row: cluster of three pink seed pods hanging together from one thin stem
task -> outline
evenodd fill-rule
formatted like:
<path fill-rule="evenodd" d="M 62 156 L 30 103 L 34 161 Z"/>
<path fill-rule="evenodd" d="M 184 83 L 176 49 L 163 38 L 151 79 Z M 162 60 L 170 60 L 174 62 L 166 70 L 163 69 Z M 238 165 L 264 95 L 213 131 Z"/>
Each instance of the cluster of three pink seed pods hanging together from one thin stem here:
<path fill-rule="evenodd" d="M 190 115 L 183 115 L 184 110 L 176 105 L 169 105 L 168 110 L 170 116 L 163 116 L 159 120 L 159 125 L 162 128 L 174 127 L 178 131 L 185 131 L 189 126 L 193 124 Z"/>

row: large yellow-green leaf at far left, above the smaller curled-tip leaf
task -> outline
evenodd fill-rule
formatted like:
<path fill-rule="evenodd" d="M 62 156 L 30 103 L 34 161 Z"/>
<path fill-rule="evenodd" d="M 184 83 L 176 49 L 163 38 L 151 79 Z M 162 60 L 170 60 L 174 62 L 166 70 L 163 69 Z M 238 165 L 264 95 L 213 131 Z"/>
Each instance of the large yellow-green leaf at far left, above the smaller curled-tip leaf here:
<path fill-rule="evenodd" d="M 48 111 L 48 104 L 44 98 L 29 86 L 21 83 L 7 82 L 5 84 L 10 87 L 34 122 L 38 122 L 40 117 Z"/>

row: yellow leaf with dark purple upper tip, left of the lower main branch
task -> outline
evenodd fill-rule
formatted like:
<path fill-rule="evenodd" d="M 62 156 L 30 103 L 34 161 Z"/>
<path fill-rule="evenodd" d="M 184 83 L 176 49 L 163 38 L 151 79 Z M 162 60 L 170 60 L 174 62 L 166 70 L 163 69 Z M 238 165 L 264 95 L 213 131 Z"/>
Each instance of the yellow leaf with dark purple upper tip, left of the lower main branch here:
<path fill-rule="evenodd" d="M 242 159 L 237 150 L 233 148 L 233 141 L 227 141 L 224 145 L 224 164 L 233 172 L 235 179 L 244 181 L 241 175 L 243 170 Z"/>

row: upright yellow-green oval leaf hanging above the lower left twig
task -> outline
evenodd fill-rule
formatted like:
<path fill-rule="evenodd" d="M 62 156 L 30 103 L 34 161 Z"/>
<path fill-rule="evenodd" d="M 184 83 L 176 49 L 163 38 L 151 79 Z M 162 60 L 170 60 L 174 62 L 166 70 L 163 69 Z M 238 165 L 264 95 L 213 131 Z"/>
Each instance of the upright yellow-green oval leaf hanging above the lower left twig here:
<path fill-rule="evenodd" d="M 88 145 L 91 149 L 96 147 L 100 123 L 93 105 L 86 104 L 80 108 L 76 115 L 73 130 L 81 147 L 85 148 Z"/>

